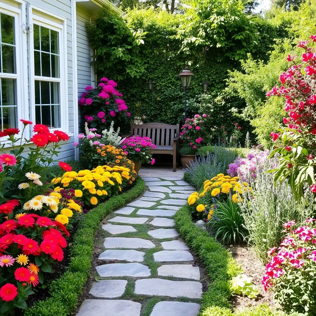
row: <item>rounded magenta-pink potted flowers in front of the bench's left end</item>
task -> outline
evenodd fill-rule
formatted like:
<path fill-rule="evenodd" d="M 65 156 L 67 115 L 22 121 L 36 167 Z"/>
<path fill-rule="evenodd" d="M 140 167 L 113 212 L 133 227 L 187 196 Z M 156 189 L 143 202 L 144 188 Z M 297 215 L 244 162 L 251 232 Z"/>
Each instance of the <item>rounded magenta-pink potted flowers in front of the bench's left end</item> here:
<path fill-rule="evenodd" d="M 133 162 L 154 164 L 151 149 L 156 148 L 149 137 L 131 136 L 122 143 L 122 149 L 127 158 Z"/>

